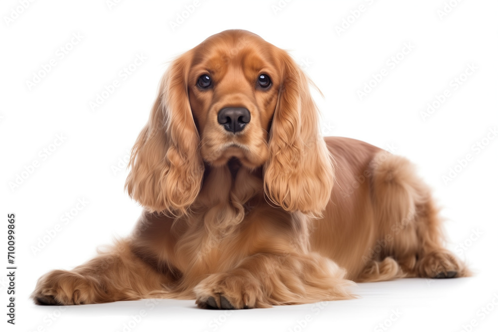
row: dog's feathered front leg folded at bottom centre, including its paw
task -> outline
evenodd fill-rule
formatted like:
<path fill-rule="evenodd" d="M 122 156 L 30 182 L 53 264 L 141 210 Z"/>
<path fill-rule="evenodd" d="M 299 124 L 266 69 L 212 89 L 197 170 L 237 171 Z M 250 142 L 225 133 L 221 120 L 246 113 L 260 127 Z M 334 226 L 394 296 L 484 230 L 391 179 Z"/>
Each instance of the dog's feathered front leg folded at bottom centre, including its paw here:
<path fill-rule="evenodd" d="M 201 308 L 248 309 L 353 298 L 345 270 L 318 253 L 257 253 L 195 288 Z"/>

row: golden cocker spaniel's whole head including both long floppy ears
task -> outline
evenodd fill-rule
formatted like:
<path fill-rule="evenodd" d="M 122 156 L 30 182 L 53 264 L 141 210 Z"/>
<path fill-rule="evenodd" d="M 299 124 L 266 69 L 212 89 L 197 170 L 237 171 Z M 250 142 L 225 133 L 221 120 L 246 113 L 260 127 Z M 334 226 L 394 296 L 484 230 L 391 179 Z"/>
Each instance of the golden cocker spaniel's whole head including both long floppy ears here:
<path fill-rule="evenodd" d="M 263 167 L 264 191 L 287 211 L 320 214 L 333 182 L 309 80 L 282 49 L 244 30 L 206 39 L 173 61 L 131 154 L 128 193 L 183 214 L 205 165 Z"/>

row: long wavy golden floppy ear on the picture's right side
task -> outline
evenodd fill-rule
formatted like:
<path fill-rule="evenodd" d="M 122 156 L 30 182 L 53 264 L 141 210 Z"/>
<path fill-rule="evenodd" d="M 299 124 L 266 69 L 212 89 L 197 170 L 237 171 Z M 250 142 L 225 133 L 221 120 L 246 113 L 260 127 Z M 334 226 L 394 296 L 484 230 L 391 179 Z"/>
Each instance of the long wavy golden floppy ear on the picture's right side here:
<path fill-rule="evenodd" d="M 270 129 L 264 191 L 284 210 L 318 217 L 330 200 L 332 157 L 320 134 L 311 82 L 287 52 L 279 51 L 283 78 Z"/>

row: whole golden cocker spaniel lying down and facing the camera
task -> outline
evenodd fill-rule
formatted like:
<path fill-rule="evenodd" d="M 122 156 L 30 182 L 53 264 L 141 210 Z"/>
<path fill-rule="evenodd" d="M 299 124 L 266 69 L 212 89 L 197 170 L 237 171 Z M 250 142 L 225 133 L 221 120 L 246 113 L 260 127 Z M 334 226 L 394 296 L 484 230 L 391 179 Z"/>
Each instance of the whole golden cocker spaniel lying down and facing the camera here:
<path fill-rule="evenodd" d="M 323 138 L 310 85 L 286 51 L 245 30 L 176 58 L 131 151 L 135 230 L 42 276 L 34 302 L 268 308 L 351 299 L 354 282 L 469 276 L 412 164 Z"/>

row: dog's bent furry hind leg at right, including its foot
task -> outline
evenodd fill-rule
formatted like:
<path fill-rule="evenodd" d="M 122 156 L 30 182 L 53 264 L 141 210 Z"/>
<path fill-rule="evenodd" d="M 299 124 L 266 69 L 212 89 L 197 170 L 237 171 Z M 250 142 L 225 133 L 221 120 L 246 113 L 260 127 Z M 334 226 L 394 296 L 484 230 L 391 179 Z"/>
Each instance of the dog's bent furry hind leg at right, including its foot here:
<path fill-rule="evenodd" d="M 385 153 L 385 152 L 384 152 Z M 377 156 L 378 157 L 378 156 Z M 467 267 L 446 248 L 438 209 L 429 188 L 416 176 L 403 157 L 388 155 L 373 169 L 372 199 L 382 250 L 365 273 L 379 271 L 367 279 L 393 277 L 453 278 L 469 276 Z M 402 272 L 393 273 L 392 258 Z M 385 279 L 382 279 L 385 277 Z"/>

